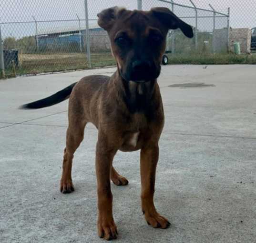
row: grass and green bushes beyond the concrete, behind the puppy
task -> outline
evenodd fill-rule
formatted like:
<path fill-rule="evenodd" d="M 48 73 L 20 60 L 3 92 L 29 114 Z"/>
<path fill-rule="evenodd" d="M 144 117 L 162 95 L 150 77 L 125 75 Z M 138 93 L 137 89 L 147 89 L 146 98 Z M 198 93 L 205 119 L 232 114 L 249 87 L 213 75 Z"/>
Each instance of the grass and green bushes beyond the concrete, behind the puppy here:
<path fill-rule="evenodd" d="M 167 54 L 169 64 L 256 64 L 256 55 L 235 55 L 225 52 L 212 54 L 212 39 L 212 34 L 199 32 L 198 49 L 195 50 L 195 38 L 184 38 L 181 31 L 175 31 L 175 54 Z M 15 73 L 36 75 L 89 68 L 86 53 L 74 50 L 74 46 L 65 46 L 65 50 L 56 48 L 37 52 L 34 37 L 21 39 L 9 37 L 4 39 L 3 45 L 4 49 L 19 50 L 19 66 L 15 67 L 15 70 L 13 65 L 6 69 L 7 78 L 14 77 Z M 168 39 L 167 46 L 171 47 L 171 38 Z M 115 65 L 110 50 L 99 49 L 97 45 L 92 45 L 91 51 L 92 68 Z M 256 54 L 256 50 L 253 52 Z M 0 74 L 0 78 L 1 76 Z"/>

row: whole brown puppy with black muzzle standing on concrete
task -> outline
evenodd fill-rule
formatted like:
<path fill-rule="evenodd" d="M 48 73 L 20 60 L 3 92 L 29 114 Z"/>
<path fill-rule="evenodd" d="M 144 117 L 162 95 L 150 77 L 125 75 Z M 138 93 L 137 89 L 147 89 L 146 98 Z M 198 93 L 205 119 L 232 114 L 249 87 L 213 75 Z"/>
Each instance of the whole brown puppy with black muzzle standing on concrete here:
<path fill-rule="evenodd" d="M 192 28 L 166 8 L 128 11 L 117 7 L 98 14 L 107 30 L 117 71 L 112 77 L 89 76 L 45 99 L 24 105 L 41 108 L 69 100 L 69 126 L 64 149 L 61 192 L 74 190 L 71 170 L 73 154 L 83 140 L 84 127 L 98 129 L 96 175 L 98 186 L 98 233 L 106 240 L 117 236 L 112 214 L 110 179 L 127 185 L 112 165 L 117 150 L 141 150 L 142 211 L 148 224 L 167 228 L 170 223 L 154 207 L 158 140 L 164 126 L 164 110 L 156 78 L 165 50 L 168 29 L 180 28 L 192 38 Z"/>

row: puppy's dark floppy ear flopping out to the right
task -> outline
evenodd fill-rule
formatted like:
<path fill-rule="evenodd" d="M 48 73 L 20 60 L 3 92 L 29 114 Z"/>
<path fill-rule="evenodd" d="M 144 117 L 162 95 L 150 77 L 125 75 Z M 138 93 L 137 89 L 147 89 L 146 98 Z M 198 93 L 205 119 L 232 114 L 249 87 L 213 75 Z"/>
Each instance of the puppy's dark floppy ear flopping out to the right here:
<path fill-rule="evenodd" d="M 153 15 L 159 19 L 168 29 L 180 28 L 184 35 L 188 38 L 194 36 L 193 29 L 190 25 L 179 19 L 172 11 L 167 8 L 151 9 Z"/>

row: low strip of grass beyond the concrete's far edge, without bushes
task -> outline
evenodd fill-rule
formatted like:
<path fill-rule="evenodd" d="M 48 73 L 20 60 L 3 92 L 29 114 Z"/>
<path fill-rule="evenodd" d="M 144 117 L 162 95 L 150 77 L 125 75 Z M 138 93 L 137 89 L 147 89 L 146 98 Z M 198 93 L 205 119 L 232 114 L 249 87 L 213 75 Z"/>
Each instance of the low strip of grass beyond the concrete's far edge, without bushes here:
<path fill-rule="evenodd" d="M 167 56 L 169 64 L 256 64 L 256 55 L 187 53 L 167 54 Z M 20 66 L 16 68 L 17 75 L 36 75 L 89 68 L 85 53 L 23 54 L 19 59 Z M 92 68 L 115 65 L 111 53 L 93 53 L 91 59 Z M 5 74 L 7 78 L 13 77 L 13 68 L 7 68 Z"/>

